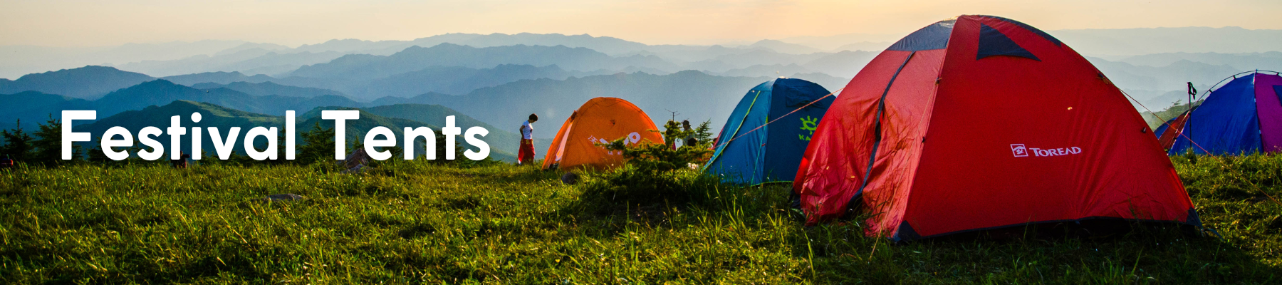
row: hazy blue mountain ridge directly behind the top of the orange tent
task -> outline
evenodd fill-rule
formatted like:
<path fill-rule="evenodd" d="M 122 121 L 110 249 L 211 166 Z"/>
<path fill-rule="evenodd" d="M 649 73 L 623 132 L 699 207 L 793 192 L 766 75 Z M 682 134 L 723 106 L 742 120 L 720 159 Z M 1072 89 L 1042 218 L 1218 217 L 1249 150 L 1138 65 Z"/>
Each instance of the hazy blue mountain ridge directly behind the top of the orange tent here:
<path fill-rule="evenodd" d="M 672 74 L 618 73 L 558 80 L 524 80 L 485 87 L 467 95 L 426 94 L 410 103 L 441 104 L 472 114 L 494 126 L 514 127 L 529 113 L 540 117 L 536 137 L 551 137 L 560 123 L 588 99 L 622 98 L 662 123 L 677 112 L 677 119 L 712 119 L 719 128 L 747 90 L 769 77 L 722 77 L 696 71 Z"/>

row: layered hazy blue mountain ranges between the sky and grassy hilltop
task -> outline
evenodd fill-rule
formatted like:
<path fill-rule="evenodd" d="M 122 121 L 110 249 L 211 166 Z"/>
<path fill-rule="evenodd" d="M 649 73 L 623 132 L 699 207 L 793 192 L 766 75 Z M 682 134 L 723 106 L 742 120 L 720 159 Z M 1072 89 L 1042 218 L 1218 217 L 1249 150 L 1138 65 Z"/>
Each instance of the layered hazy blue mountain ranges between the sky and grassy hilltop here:
<path fill-rule="evenodd" d="M 1205 90 L 1241 71 L 1282 71 L 1282 51 L 1276 48 L 1282 46 L 1282 33 L 1274 30 L 1049 32 L 1150 108 L 1183 99 L 1185 82 Z M 106 118 L 179 100 L 265 116 L 363 108 L 438 126 L 431 117 L 414 114 L 423 109 L 468 116 L 492 134 L 501 130 L 491 139 L 513 141 L 491 144 L 514 153 L 512 130 L 527 114 L 541 114 L 538 136 L 546 139 L 579 104 L 596 96 L 629 100 L 658 125 L 674 112 L 677 119 L 712 121 L 719 128 L 753 86 L 785 76 L 837 90 L 899 37 L 837 35 L 697 46 L 587 35 L 447 33 L 297 48 L 244 41 L 47 50 L 0 46 L 14 55 L 0 58 L 0 76 L 15 78 L 0 80 L 0 101 L 10 103 L 0 112 L 0 127 L 8 128 L 14 119 L 33 127 L 62 109 L 96 109 L 99 118 Z M 388 107 L 394 104 L 435 107 Z"/>

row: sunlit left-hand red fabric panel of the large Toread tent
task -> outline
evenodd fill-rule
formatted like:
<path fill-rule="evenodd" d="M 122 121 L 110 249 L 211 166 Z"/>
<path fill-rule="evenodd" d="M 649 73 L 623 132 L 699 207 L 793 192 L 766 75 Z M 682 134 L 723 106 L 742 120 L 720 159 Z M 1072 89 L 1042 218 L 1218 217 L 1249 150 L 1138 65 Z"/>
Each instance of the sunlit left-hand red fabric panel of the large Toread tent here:
<path fill-rule="evenodd" d="M 886 94 L 886 112 L 882 114 L 882 141 L 878 146 L 873 173 L 895 173 L 869 177 L 864 189 L 865 205 L 890 207 L 903 202 L 896 189 L 909 186 L 917 164 L 920 137 L 926 131 L 926 118 L 929 117 L 929 101 L 933 100 L 935 80 L 938 74 L 944 50 L 885 51 L 873 58 L 854 80 L 842 89 L 841 95 L 828 108 L 829 114 L 819 121 L 815 136 L 806 148 L 803 166 L 797 169 L 795 189 L 800 189 L 803 205 L 809 207 L 808 223 L 829 220 L 844 214 L 846 202 L 859 190 L 868 169 L 868 153 L 872 150 L 876 134 L 877 101 L 895 71 L 904 71 L 895 78 Z M 819 136 L 819 135 L 823 136 Z M 891 154 L 905 154 L 904 159 Z M 822 171 L 806 172 L 808 168 L 822 167 Z M 801 178 L 805 177 L 805 178 Z M 906 193 L 906 191 L 904 191 Z M 888 217 L 883 217 L 888 218 Z"/>

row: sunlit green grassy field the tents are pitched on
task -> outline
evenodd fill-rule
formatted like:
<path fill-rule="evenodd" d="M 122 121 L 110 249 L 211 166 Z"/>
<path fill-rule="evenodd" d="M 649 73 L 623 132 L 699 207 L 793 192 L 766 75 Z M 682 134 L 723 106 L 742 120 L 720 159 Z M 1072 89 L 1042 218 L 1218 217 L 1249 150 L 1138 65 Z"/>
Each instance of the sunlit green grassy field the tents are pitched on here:
<path fill-rule="evenodd" d="M 1172 159 L 1223 238 L 1133 225 L 887 244 L 859 222 L 801 226 L 787 187 L 685 172 L 682 193 L 647 193 L 506 164 L 19 167 L 0 171 L 0 282 L 1282 282 L 1282 207 L 1258 190 L 1282 196 L 1282 157 Z M 259 200 L 283 193 L 306 199 Z"/>

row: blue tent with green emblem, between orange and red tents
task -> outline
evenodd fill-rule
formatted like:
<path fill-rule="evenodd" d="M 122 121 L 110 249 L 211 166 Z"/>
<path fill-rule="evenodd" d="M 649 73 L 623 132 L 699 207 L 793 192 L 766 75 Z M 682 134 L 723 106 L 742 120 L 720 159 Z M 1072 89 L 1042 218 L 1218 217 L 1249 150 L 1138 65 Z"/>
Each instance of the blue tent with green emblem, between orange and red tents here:
<path fill-rule="evenodd" d="M 735 184 L 792 181 L 819 118 L 836 99 L 826 95 L 823 86 L 795 78 L 753 87 L 722 127 L 704 171 Z"/>

